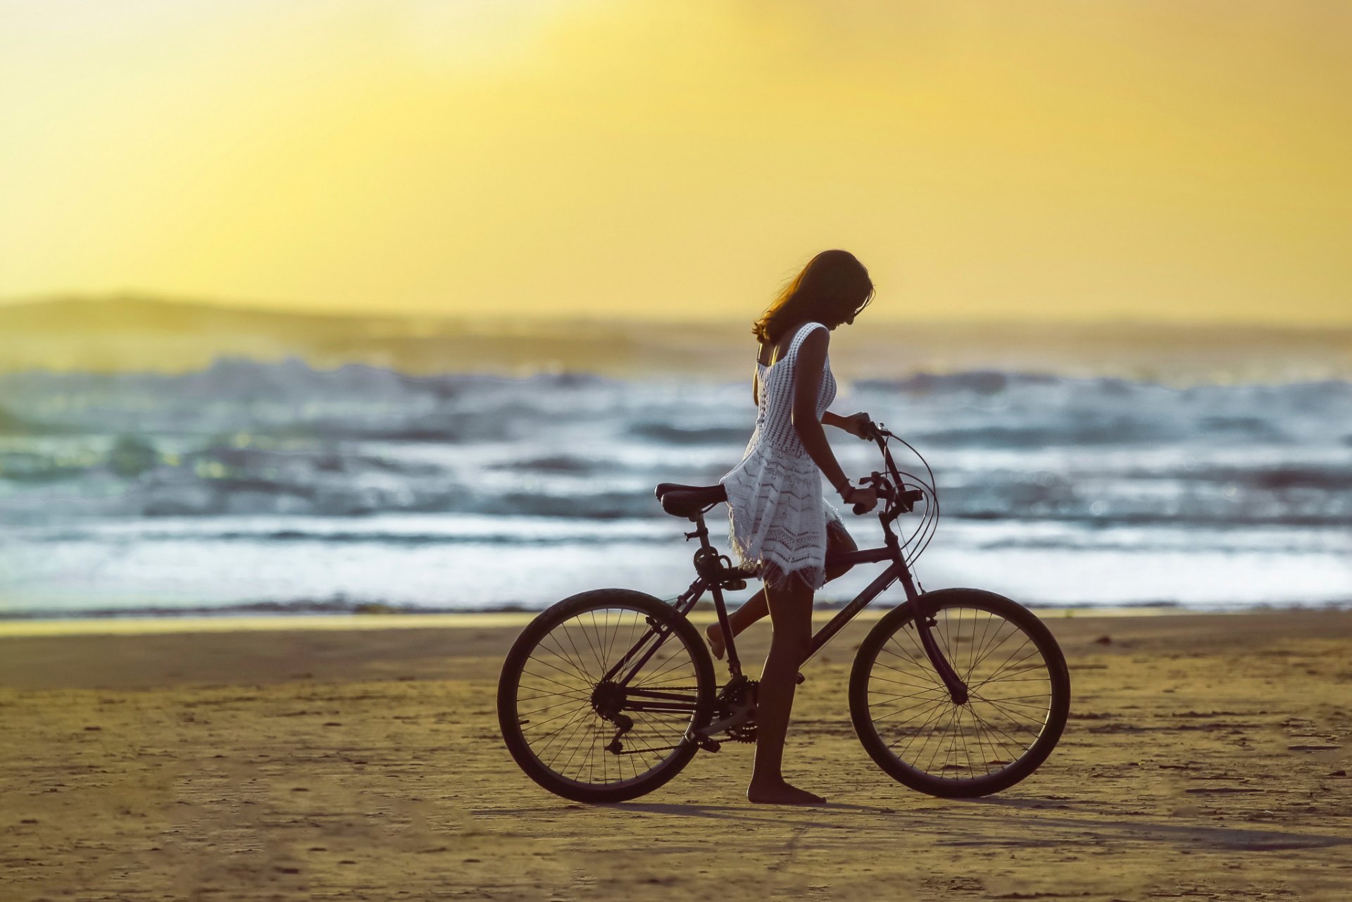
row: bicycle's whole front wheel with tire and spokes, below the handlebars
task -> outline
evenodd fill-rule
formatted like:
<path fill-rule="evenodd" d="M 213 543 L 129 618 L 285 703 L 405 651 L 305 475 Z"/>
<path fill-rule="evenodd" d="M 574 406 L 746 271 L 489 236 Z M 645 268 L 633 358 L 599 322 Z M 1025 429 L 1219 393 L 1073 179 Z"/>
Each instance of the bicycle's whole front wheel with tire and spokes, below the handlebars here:
<path fill-rule="evenodd" d="M 925 655 L 911 604 L 869 632 L 850 673 L 850 717 L 873 761 L 900 783 L 942 798 L 1014 786 L 1051 755 L 1065 728 L 1071 678 L 1046 626 L 994 592 L 925 595 L 930 633 L 967 684 L 955 705 Z"/>

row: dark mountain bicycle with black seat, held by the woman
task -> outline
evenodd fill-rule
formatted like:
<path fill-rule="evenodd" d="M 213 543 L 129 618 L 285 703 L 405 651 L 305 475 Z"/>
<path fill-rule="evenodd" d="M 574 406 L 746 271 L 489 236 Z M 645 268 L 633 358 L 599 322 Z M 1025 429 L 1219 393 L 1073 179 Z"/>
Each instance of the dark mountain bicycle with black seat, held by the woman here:
<path fill-rule="evenodd" d="M 1065 728 L 1065 657 L 1046 626 L 1009 598 L 975 588 L 917 591 L 911 564 L 938 523 L 934 475 L 927 462 L 927 481 L 898 471 L 891 440 L 925 458 L 882 425 L 871 425 L 869 437 L 883 472 L 860 481 L 883 502 L 886 542 L 829 556 L 827 565 L 890 565 L 822 626 L 807 657 L 900 581 L 906 600 L 877 621 L 854 657 L 854 732 L 873 761 L 913 790 L 941 798 L 999 792 L 1036 771 Z M 698 751 L 756 740 L 757 684 L 742 673 L 723 602 L 723 590 L 745 588 L 753 573 L 719 554 L 704 525 L 726 492 L 662 483 L 656 494 L 662 510 L 695 525 L 685 533 L 700 542 L 695 581 L 673 602 L 623 588 L 565 598 L 531 621 L 503 663 L 498 721 L 507 749 L 530 779 L 576 802 L 645 795 Z M 919 503 L 923 514 L 903 542 L 892 523 Z M 706 591 L 726 642 L 729 679 L 721 687 L 688 619 Z"/>

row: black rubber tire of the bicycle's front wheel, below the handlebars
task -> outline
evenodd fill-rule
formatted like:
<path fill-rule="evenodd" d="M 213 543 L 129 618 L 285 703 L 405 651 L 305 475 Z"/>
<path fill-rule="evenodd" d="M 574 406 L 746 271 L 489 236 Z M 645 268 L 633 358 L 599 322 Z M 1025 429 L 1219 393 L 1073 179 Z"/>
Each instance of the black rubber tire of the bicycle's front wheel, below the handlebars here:
<path fill-rule="evenodd" d="M 964 671 L 969 679 L 969 687 L 973 696 L 964 706 L 953 705 L 952 698 L 944 688 L 937 672 L 934 672 L 933 665 L 929 659 L 923 656 L 921 650 L 918 655 L 915 649 L 919 648 L 919 642 L 915 637 L 907 636 L 907 642 L 903 645 L 896 640 L 896 636 L 906 630 L 907 626 L 914 619 L 914 607 L 910 602 L 902 604 L 886 617 L 883 617 L 868 636 L 860 644 L 859 652 L 854 657 L 854 665 L 850 672 L 849 684 L 849 705 L 850 705 L 850 719 L 854 723 L 854 733 L 859 736 L 860 742 L 868 752 L 869 757 L 876 763 L 888 776 L 894 778 L 899 783 L 917 790 L 919 792 L 926 792 L 929 795 L 936 795 L 940 798 L 976 798 L 982 795 L 990 795 L 992 792 L 999 792 L 1006 790 L 1015 783 L 1026 779 L 1033 771 L 1036 771 L 1056 748 L 1057 741 L 1061 737 L 1061 732 L 1065 729 L 1065 719 L 1069 713 L 1071 701 L 1071 678 L 1069 671 L 1065 667 L 1065 656 L 1061 653 L 1060 646 L 1056 644 L 1056 638 L 1052 636 L 1051 630 L 1037 619 L 1037 617 L 1029 611 L 1022 604 L 1005 598 L 1003 595 L 996 595 L 994 592 L 986 592 L 975 588 L 949 588 L 938 590 L 934 592 L 927 592 L 923 596 L 927 602 L 929 610 L 934 614 L 938 621 L 938 626 L 932 627 L 932 634 L 938 642 L 940 648 L 944 649 L 945 656 L 949 657 L 949 663 L 955 665 L 959 675 L 963 676 Z M 952 617 L 948 614 L 950 611 L 959 611 L 957 615 L 957 638 L 953 640 L 952 634 L 955 632 Z M 963 611 L 973 611 L 972 617 L 972 633 L 963 636 Z M 977 636 L 977 625 L 980 618 L 975 613 L 984 611 L 990 614 L 984 629 L 986 633 Z M 991 633 L 990 623 L 1000 618 L 1005 623 L 1011 625 L 1010 634 L 998 640 L 998 632 Z M 946 627 L 946 633 L 945 633 Z M 995 627 L 999 630 L 1000 627 Z M 1030 644 L 1036 653 L 1040 656 L 1040 663 L 1028 665 L 1029 669 L 1009 669 L 1007 664 L 1000 664 L 998 656 L 1005 655 L 1003 644 L 1009 641 L 1010 637 L 1015 634 L 1022 634 L 1023 644 Z M 996 640 L 1002 645 L 996 645 Z M 977 642 L 983 642 L 982 646 Z M 894 646 L 890 642 L 895 642 Z M 967 660 L 960 660 L 963 656 L 963 645 L 971 645 L 965 649 Z M 979 655 L 980 649 L 984 655 Z M 1023 648 L 1021 645 L 1019 648 Z M 890 664 L 880 664 L 879 657 L 886 653 L 895 655 L 899 661 L 895 661 L 898 667 L 892 668 Z M 903 655 L 896 655 L 896 649 L 900 649 Z M 955 660 L 955 649 L 957 650 Z M 1014 660 L 1014 655 L 1021 652 L 1015 650 L 1010 653 L 1007 660 Z M 907 657 L 909 655 L 909 657 Z M 1032 657 L 1033 653 L 1029 653 Z M 987 664 L 987 661 L 994 659 L 994 664 Z M 1025 661 L 1015 661 L 1014 667 L 1025 667 Z M 909 663 L 907 663 L 909 661 Z M 977 682 L 973 676 L 980 676 L 987 673 L 991 667 L 1000 664 L 1006 667 L 1005 672 L 1015 673 L 1015 679 L 1009 682 L 1030 682 L 1037 686 L 1045 675 L 1046 683 L 1046 701 L 1045 701 L 1045 714 L 1036 733 L 1036 740 L 1028 745 L 1015 759 L 1005 761 L 1003 757 L 1009 756 L 1013 749 L 1017 748 L 1019 737 L 1005 732 L 1000 726 L 994 726 L 979 715 L 982 706 L 986 706 L 986 713 L 988 717 L 1005 718 L 1009 722 L 1010 717 L 1026 715 L 1029 722 L 1033 722 L 1038 714 L 1038 695 L 1030 694 L 1019 698 L 1019 701 L 1010 701 L 1010 696 L 996 698 L 994 702 L 987 701 L 977 692 L 977 687 L 984 687 L 990 684 L 994 678 L 988 676 L 984 683 Z M 984 668 L 975 672 L 976 668 Z M 895 669 L 896 673 L 884 675 L 884 669 Z M 998 675 L 999 671 L 995 671 Z M 1025 676 L 1032 675 L 1032 676 Z M 925 684 L 925 678 L 933 680 L 933 686 Z M 904 679 L 903 679 L 904 678 Z M 873 692 L 871 695 L 871 683 L 873 684 Z M 896 686 L 886 686 L 887 683 L 896 683 Z M 886 733 L 880 730 L 877 723 L 877 715 L 873 711 L 875 705 L 879 710 L 886 709 L 886 703 L 882 699 L 888 692 L 906 691 L 910 687 L 915 687 L 919 691 L 913 692 L 915 698 L 910 705 L 917 710 L 915 714 L 909 714 L 906 719 L 911 721 L 911 726 L 906 726 L 906 719 L 888 725 Z M 1033 690 L 1036 687 L 1018 687 L 1015 691 Z M 1040 691 L 1040 690 L 1038 690 Z M 994 691 L 991 692 L 994 695 Z M 907 698 L 907 696 L 899 696 Z M 1029 702 L 1028 699 L 1033 699 Z M 895 702 L 892 702 L 895 705 Z M 946 706 L 946 707 L 945 707 Z M 963 709 L 967 709 L 963 713 Z M 995 714 L 992 714 L 992 711 Z M 900 713 L 907 713 L 906 709 L 900 709 Z M 968 771 L 975 774 L 977 769 L 971 759 L 971 749 L 968 746 L 968 740 L 965 736 L 965 729 L 963 728 L 964 718 L 971 717 L 971 730 L 976 738 L 977 756 L 991 755 L 991 760 L 980 761 L 987 767 L 987 772 L 977 776 L 941 776 L 930 771 L 933 761 L 937 757 L 937 752 L 932 756 L 930 763 L 923 767 L 918 767 L 914 761 L 903 760 L 904 757 L 921 757 L 921 755 L 913 755 L 910 752 L 914 741 L 923 734 L 925 726 L 944 725 L 944 718 L 948 717 L 948 728 L 945 736 L 949 736 L 950 749 L 944 753 L 944 759 L 940 759 L 941 774 L 944 771 Z M 917 721 L 926 718 L 921 726 L 914 726 Z M 983 728 L 984 725 L 984 728 Z M 1032 732 L 1032 728 L 1023 728 L 1025 732 Z M 983 732 L 984 730 L 984 732 Z M 1003 737 L 1000 733 L 1003 732 Z M 891 737 L 896 737 L 895 741 L 888 741 Z M 907 740 L 906 737 L 910 736 Z M 963 737 L 963 749 L 967 755 L 967 764 L 956 759 L 957 737 Z M 906 740 L 907 745 L 902 753 L 898 753 L 894 746 L 900 745 Z M 930 736 L 925 737 L 926 745 L 922 746 L 927 749 L 927 742 Z M 940 740 L 938 748 L 942 749 L 944 740 Z M 956 763 L 950 763 L 950 759 Z M 999 769 L 990 771 L 990 765 L 1000 764 Z"/>

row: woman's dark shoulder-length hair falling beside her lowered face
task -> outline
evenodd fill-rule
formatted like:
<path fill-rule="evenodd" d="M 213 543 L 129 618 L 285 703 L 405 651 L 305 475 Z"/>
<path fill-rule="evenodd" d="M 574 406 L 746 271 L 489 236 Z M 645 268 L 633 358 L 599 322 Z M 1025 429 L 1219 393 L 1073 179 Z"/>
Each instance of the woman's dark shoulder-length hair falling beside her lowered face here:
<path fill-rule="evenodd" d="M 873 283 L 864 264 L 848 250 L 823 250 L 803 266 L 803 272 L 752 323 L 752 334 L 763 342 L 773 343 L 794 323 L 842 323 L 856 316 L 872 299 Z"/>

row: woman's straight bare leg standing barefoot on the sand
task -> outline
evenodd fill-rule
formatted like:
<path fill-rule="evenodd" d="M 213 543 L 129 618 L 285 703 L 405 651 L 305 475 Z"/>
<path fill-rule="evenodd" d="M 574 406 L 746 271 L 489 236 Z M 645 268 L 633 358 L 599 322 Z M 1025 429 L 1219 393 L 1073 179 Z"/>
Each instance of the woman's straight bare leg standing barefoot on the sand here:
<path fill-rule="evenodd" d="M 813 636 L 813 590 L 794 583 L 769 595 L 775 625 L 756 701 L 756 768 L 746 798 L 768 805 L 821 805 L 825 799 L 784 780 L 784 736 L 798 688 L 798 668 Z"/>

